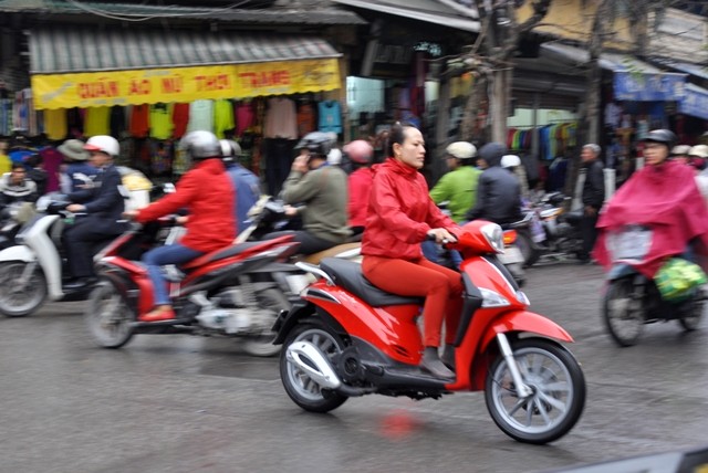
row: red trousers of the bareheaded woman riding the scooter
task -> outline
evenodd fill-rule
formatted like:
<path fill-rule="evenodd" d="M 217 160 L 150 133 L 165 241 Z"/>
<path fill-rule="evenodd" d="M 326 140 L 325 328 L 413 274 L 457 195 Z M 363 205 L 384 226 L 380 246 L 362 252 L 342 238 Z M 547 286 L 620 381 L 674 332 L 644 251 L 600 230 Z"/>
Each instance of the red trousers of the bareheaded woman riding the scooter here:
<path fill-rule="evenodd" d="M 445 341 L 455 341 L 462 311 L 462 278 L 420 256 L 418 260 L 364 256 L 364 276 L 375 286 L 398 295 L 424 296 L 423 344 L 440 346 L 440 328 L 445 319 Z"/>

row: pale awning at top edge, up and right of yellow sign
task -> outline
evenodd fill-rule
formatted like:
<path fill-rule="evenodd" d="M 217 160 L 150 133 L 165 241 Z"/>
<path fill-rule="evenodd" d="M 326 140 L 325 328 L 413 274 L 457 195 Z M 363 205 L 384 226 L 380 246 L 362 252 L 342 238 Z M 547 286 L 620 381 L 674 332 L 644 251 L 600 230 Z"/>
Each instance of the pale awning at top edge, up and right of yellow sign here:
<path fill-rule="evenodd" d="M 396 17 L 410 18 L 427 23 L 442 24 L 456 30 L 479 32 L 479 21 L 466 18 L 455 9 L 436 0 L 333 0 L 335 3 L 364 10 L 378 11 Z"/>

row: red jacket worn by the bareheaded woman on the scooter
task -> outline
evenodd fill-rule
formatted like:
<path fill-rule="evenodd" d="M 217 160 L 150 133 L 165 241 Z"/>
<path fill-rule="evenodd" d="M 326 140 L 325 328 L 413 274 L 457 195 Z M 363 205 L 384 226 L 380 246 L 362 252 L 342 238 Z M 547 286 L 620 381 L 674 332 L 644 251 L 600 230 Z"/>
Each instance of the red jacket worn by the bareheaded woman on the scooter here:
<path fill-rule="evenodd" d="M 362 254 L 416 260 L 430 229 L 457 229 L 433 202 L 417 169 L 393 158 L 374 166 Z"/>

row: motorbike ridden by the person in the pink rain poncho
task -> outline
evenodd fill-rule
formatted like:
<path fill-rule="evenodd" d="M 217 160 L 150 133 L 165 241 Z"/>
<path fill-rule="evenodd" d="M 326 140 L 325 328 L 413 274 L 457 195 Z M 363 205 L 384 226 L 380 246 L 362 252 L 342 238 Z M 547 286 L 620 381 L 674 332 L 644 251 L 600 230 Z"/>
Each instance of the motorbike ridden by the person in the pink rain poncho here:
<path fill-rule="evenodd" d="M 696 290 L 680 301 L 666 301 L 654 280 L 637 270 L 650 255 L 652 238 L 648 225 L 626 225 L 607 235 L 612 269 L 606 275 L 603 319 L 612 338 L 623 347 L 635 345 L 646 324 L 677 320 L 691 332 L 704 315 L 702 291 Z"/>

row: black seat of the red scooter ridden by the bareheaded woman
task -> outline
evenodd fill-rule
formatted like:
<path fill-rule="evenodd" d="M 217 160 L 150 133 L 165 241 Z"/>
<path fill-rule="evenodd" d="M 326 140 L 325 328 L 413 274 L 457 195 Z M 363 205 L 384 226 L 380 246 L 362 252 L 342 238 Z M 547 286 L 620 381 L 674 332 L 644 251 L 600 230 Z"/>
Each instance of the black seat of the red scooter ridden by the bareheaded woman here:
<path fill-rule="evenodd" d="M 320 262 L 320 269 L 340 286 L 351 292 L 372 307 L 387 305 L 423 305 L 425 297 L 410 297 L 391 294 L 373 285 L 362 273 L 360 263 L 341 257 L 325 257 Z"/>

